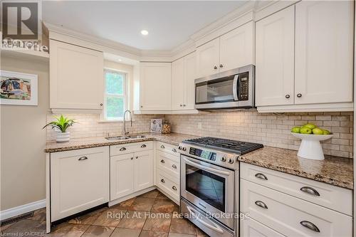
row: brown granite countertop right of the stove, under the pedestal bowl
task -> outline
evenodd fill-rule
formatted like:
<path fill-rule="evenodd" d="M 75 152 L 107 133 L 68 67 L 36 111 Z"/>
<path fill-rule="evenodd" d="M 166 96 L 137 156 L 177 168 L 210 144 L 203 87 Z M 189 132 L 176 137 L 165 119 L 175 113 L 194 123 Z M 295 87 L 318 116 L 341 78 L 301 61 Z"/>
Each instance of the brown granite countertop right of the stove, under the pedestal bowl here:
<path fill-rule="evenodd" d="M 353 189 L 353 159 L 325 156 L 325 160 L 320 161 L 298 158 L 297 153 L 290 149 L 263 147 L 242 155 L 239 161 Z"/>

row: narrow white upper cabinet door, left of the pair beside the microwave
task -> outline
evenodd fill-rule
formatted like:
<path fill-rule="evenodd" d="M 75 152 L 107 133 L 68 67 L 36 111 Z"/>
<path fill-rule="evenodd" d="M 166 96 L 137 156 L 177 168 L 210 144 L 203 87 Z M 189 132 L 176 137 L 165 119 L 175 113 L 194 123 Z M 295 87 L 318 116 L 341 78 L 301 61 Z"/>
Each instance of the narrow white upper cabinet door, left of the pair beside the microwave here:
<path fill-rule="evenodd" d="M 182 110 L 184 104 L 184 58 L 172 63 L 172 110 Z"/>

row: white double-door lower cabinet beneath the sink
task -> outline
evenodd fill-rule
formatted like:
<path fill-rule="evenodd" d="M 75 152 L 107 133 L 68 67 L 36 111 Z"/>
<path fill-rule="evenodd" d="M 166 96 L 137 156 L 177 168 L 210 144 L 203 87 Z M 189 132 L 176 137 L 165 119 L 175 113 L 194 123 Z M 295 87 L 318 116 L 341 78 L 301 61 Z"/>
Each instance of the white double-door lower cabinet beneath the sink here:
<path fill-rule="evenodd" d="M 153 158 L 153 149 L 110 157 L 110 201 L 153 186 Z"/>

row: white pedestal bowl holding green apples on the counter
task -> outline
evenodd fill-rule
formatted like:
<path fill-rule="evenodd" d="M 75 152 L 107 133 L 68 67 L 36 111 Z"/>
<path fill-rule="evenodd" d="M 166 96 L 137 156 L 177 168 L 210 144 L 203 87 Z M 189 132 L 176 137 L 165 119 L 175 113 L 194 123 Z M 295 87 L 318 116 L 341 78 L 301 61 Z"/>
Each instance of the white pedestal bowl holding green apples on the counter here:
<path fill-rule="evenodd" d="M 298 157 L 305 159 L 325 159 L 323 148 L 321 147 L 320 141 L 324 141 L 333 137 L 330 135 L 310 135 L 290 132 L 294 137 L 302 139 L 298 150 Z"/>

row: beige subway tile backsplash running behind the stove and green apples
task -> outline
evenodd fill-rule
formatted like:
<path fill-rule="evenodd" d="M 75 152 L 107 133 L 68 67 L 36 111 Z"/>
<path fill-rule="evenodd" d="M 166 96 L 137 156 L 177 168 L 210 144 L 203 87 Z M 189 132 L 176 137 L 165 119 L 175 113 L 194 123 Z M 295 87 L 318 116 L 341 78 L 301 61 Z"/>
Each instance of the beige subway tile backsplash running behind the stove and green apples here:
<path fill-rule="evenodd" d="M 294 126 L 311 122 L 333 132 L 323 142 L 325 154 L 352 158 L 353 112 L 258 113 L 255 110 L 166 115 L 173 132 L 258 142 L 298 150 L 300 139 L 290 135 Z"/>

